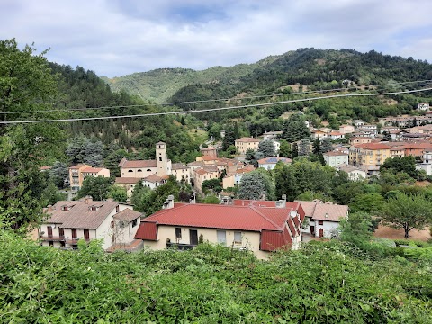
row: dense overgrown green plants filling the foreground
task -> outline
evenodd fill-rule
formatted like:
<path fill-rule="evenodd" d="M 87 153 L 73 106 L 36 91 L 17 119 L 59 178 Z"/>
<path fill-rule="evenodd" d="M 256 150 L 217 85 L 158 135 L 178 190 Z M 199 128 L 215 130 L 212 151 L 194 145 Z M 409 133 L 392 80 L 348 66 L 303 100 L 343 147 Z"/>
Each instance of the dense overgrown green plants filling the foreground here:
<path fill-rule="evenodd" d="M 193 251 L 40 247 L 0 232 L 1 323 L 430 323 L 430 262 L 337 241 L 259 261 Z"/>

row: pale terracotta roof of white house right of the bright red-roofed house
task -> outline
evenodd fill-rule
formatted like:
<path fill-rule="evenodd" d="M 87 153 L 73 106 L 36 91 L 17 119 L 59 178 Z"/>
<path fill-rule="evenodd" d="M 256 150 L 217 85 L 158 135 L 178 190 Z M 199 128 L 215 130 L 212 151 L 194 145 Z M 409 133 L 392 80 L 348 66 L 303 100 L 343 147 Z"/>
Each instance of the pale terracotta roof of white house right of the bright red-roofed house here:
<path fill-rule="evenodd" d="M 347 217 L 347 205 L 323 202 L 296 202 L 300 202 L 305 215 L 311 217 L 313 220 L 339 221 L 340 218 Z"/>

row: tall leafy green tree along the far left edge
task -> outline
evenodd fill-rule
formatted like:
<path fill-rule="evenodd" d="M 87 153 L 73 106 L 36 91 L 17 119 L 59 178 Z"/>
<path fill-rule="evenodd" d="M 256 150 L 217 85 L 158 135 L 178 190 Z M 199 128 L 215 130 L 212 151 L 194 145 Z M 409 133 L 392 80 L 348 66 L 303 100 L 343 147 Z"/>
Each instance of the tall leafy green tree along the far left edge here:
<path fill-rule="evenodd" d="M 22 114 L 38 111 L 30 119 L 55 118 L 52 107 L 57 79 L 51 74 L 46 51 L 39 55 L 26 46 L 18 49 L 15 40 L 0 40 L 0 112 L 7 121 L 20 121 Z M 6 114 L 0 114 L 6 121 Z M 64 131 L 58 124 L 0 124 L 0 222 L 6 228 L 27 229 L 42 217 L 44 179 L 39 167 L 61 155 Z"/>

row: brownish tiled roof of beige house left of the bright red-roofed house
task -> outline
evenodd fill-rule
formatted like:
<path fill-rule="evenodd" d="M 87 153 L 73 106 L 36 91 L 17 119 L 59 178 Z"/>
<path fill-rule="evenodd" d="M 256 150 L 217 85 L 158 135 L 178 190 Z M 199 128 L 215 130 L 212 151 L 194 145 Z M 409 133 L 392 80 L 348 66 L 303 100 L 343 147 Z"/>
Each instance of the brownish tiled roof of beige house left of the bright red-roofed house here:
<path fill-rule="evenodd" d="M 49 219 L 45 223 L 61 224 L 65 229 L 97 229 L 108 215 L 115 211 L 119 202 L 57 202 L 51 211 L 47 211 Z M 68 210 L 63 210 L 63 206 Z M 96 207 L 91 211 L 90 207 Z"/>

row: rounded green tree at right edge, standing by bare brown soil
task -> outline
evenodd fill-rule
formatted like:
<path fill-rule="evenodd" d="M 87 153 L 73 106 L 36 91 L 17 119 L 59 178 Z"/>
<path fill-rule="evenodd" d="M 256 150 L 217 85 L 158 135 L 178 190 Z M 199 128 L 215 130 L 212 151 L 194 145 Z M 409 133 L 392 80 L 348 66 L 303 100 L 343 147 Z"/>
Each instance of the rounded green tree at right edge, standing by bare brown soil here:
<path fill-rule="evenodd" d="M 432 202 L 424 195 L 396 193 L 383 205 L 383 222 L 395 229 L 404 229 L 405 238 L 411 229 L 425 229 L 432 223 Z"/>

